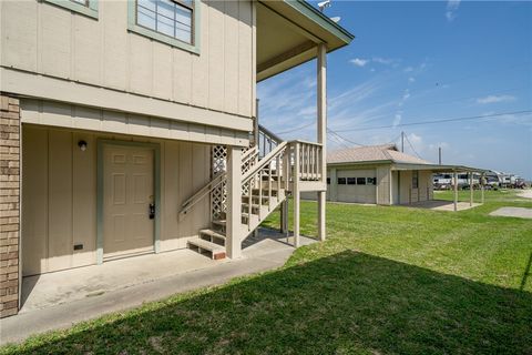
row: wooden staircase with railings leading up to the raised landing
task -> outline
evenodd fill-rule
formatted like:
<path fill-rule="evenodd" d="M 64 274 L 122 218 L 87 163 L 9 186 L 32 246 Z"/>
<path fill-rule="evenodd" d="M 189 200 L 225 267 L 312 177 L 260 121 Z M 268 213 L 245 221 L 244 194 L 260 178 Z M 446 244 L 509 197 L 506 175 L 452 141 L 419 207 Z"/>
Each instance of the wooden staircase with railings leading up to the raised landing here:
<path fill-rule="evenodd" d="M 288 194 L 299 196 L 300 191 L 326 189 L 320 144 L 276 141 L 275 146 L 270 144 L 269 149 L 260 152 L 262 159 L 257 145 L 242 155 L 239 176 L 242 196 L 239 203 L 236 202 L 241 205 L 241 223 L 233 226 L 231 239 L 227 235 L 226 223 L 227 173 L 216 174 L 211 182 L 183 203 L 180 220 L 184 219 L 197 202 L 211 197 L 211 226 L 198 231 L 196 236 L 187 241 L 191 250 L 213 260 L 224 258 L 228 241 L 233 246 L 234 243 L 242 243 L 286 200 Z M 222 165 L 225 166 L 226 163 Z M 236 196 L 235 199 L 238 200 Z M 235 204 L 232 207 L 238 210 Z"/>

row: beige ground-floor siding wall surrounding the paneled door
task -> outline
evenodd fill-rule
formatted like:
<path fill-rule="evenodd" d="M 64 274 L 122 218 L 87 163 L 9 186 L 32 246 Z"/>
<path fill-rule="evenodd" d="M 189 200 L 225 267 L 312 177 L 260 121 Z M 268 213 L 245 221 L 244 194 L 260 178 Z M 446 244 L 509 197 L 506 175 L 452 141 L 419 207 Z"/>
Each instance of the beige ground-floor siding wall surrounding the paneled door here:
<path fill-rule="evenodd" d="M 40 274 L 96 262 L 96 140 L 131 138 L 23 126 L 22 267 Z M 81 152 L 78 142 L 88 142 Z M 178 141 L 140 139 L 161 145 L 161 251 L 185 247 L 185 237 L 208 225 L 208 201 L 185 220 L 183 201 L 209 180 L 209 146 Z M 82 243 L 83 251 L 73 251 Z"/>

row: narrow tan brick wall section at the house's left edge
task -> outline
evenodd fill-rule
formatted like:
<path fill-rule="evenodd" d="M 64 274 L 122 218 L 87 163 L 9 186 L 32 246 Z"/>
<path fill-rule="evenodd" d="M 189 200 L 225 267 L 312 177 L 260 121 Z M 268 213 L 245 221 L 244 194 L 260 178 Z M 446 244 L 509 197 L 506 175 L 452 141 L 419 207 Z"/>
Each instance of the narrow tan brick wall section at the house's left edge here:
<path fill-rule="evenodd" d="M 0 318 L 19 311 L 20 108 L 0 93 Z"/>

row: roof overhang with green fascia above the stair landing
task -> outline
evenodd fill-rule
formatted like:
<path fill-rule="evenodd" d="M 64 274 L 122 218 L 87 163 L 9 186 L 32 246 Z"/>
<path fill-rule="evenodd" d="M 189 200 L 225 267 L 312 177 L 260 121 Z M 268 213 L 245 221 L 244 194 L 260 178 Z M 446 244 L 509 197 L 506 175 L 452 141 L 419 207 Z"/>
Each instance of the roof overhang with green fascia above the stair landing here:
<path fill-rule="evenodd" d="M 331 52 L 354 38 L 304 0 L 259 0 L 257 82 L 313 60 L 318 43 Z"/>

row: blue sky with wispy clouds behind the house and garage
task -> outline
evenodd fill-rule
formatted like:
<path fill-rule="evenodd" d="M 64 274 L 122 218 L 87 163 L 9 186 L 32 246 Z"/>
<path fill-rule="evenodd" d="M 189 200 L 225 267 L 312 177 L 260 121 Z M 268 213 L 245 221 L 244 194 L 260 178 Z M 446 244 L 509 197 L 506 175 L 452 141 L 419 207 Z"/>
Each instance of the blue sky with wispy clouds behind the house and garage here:
<path fill-rule="evenodd" d="M 532 114 L 508 113 L 532 110 L 532 2 L 332 0 L 325 13 L 356 36 L 328 55 L 329 149 L 399 144 L 405 131 L 422 159 L 441 146 L 443 163 L 532 179 Z M 260 123 L 315 141 L 315 79 L 313 61 L 260 82 Z"/>

